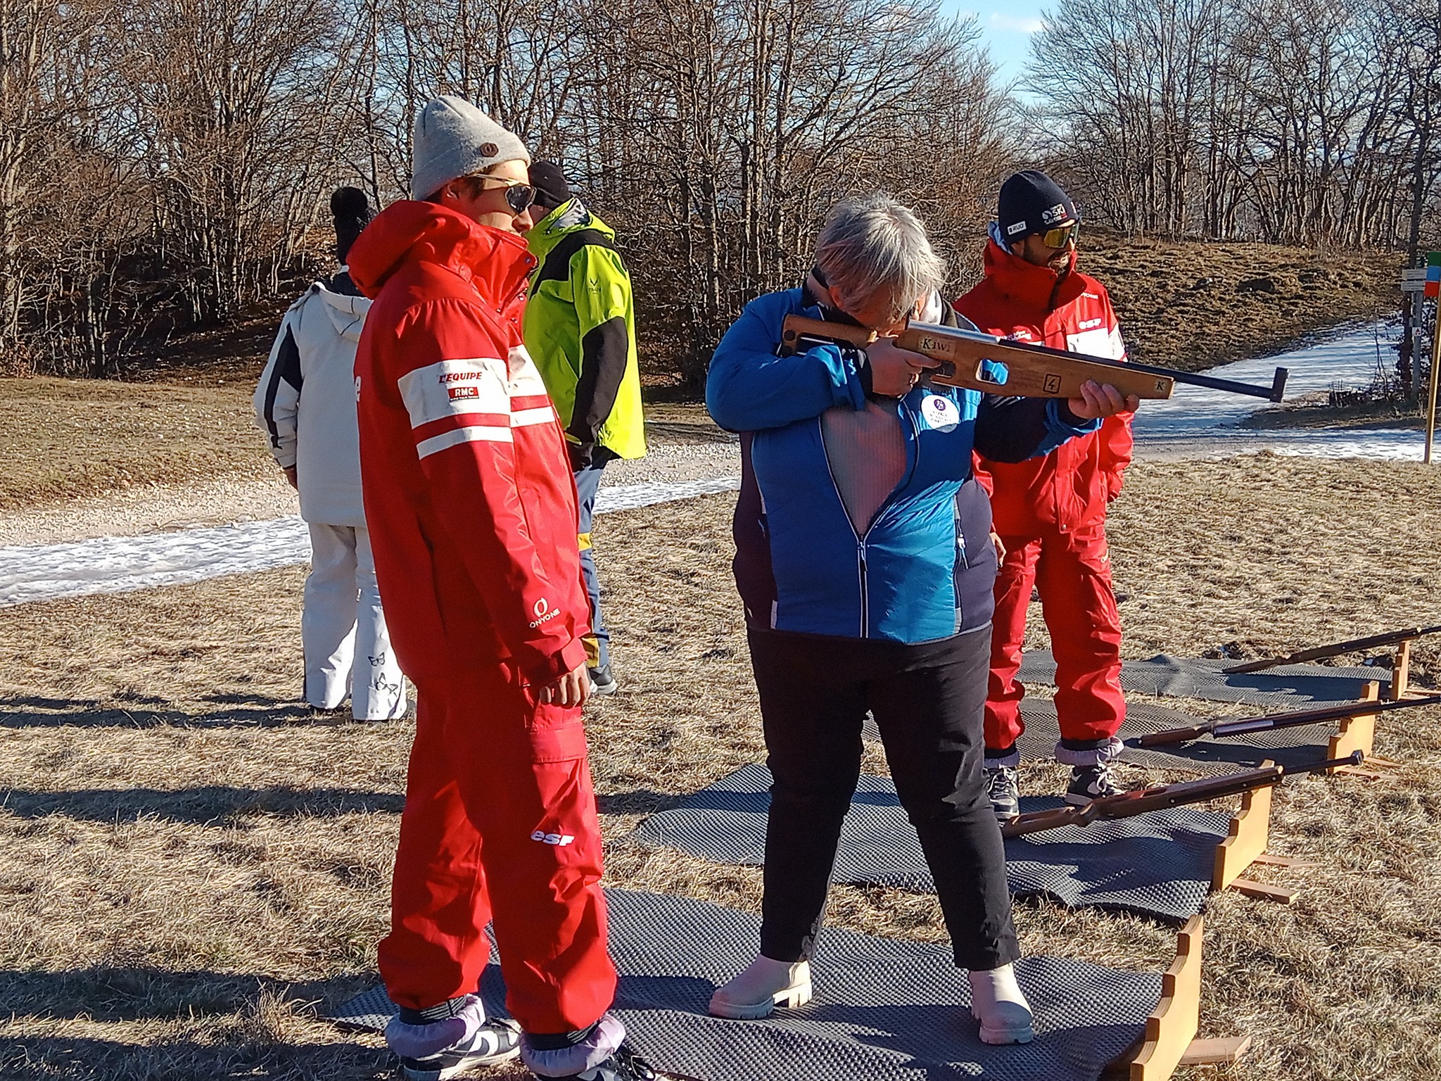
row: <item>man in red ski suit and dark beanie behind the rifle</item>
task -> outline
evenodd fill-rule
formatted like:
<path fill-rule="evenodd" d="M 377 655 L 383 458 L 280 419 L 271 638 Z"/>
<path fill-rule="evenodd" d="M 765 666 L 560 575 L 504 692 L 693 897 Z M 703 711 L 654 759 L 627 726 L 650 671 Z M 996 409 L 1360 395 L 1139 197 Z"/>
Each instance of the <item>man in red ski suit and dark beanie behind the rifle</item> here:
<path fill-rule="evenodd" d="M 1124 360 L 1121 329 L 1105 287 L 1076 270 L 1081 218 L 1045 173 L 1016 173 L 1000 189 L 986 244 L 986 277 L 955 301 L 981 330 L 1105 359 Z M 1025 725 L 1016 679 L 1035 585 L 1056 657 L 1056 760 L 1071 765 L 1066 801 L 1085 804 L 1121 791 L 1110 762 L 1120 754 L 1121 620 L 1111 588 L 1105 509 L 1121 493 L 1131 460 L 1130 414 L 1017 464 L 977 458 L 991 490 L 1004 556 L 996 578 L 986 774 L 996 814 L 1017 813 L 1016 741 Z"/>

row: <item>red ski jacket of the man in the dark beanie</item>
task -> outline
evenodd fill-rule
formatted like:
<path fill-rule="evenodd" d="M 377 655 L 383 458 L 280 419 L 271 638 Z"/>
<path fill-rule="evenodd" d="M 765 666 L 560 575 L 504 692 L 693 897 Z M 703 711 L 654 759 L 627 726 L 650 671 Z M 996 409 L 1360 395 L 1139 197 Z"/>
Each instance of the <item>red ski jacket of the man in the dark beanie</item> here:
<path fill-rule="evenodd" d="M 1121 327 L 1105 285 L 1076 268 L 1061 277 L 986 242 L 986 277 L 955 301 L 955 310 L 989 334 L 1072 353 L 1125 359 Z M 1131 461 L 1131 414 L 1110 417 L 1101 430 L 1061 444 L 1043 458 L 1016 464 L 977 455 L 976 476 L 991 493 L 1001 536 L 1069 532 L 1105 519 L 1121 494 Z"/>

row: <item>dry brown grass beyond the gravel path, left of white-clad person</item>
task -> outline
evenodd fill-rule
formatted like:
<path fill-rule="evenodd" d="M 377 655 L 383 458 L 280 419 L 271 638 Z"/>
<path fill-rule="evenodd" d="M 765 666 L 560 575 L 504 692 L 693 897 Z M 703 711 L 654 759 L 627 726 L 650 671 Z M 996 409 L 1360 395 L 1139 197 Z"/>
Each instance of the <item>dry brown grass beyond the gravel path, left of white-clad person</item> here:
<path fill-rule="evenodd" d="M 0 510 L 218 476 L 268 476 L 275 463 L 244 382 L 120 383 L 0 379 Z"/>

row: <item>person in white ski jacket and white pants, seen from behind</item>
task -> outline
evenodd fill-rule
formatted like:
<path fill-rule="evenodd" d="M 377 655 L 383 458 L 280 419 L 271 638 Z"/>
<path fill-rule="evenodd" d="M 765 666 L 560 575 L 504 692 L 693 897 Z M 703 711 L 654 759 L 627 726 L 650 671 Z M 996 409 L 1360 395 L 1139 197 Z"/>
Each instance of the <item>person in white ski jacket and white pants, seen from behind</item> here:
<path fill-rule="evenodd" d="M 370 301 L 346 268 L 370 206 L 360 189 L 340 187 L 330 212 L 340 270 L 285 313 L 255 391 L 255 417 L 310 526 L 300 615 L 304 698 L 317 709 L 336 709 L 349 695 L 356 721 L 389 721 L 405 713 L 405 679 L 375 579 L 354 395 L 356 346 Z"/>

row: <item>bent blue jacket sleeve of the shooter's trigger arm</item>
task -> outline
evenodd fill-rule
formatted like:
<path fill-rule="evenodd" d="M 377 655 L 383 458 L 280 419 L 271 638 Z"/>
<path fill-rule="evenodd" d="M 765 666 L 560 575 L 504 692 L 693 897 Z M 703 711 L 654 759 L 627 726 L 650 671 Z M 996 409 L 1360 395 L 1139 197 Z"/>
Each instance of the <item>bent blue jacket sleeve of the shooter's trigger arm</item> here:
<path fill-rule="evenodd" d="M 862 409 L 866 393 L 860 350 L 824 344 L 777 356 L 787 295 L 772 293 L 746 304 L 725 333 L 706 376 L 706 408 L 729 431 L 782 428 L 846 405 Z"/>

